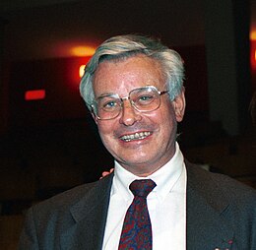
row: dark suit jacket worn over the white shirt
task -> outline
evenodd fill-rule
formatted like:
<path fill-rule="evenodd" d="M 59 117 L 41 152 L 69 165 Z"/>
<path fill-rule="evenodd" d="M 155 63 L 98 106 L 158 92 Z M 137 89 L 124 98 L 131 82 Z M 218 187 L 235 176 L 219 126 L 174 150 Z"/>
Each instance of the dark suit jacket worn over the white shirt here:
<path fill-rule="evenodd" d="M 255 250 L 255 190 L 188 162 L 186 168 L 187 249 Z M 32 207 L 19 249 L 101 249 L 112 177 Z"/>

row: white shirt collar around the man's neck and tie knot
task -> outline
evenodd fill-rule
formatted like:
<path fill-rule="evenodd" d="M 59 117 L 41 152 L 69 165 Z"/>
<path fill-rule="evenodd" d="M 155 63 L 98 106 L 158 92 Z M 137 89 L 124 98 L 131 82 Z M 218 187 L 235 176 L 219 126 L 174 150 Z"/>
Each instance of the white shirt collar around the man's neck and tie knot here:
<path fill-rule="evenodd" d="M 172 158 L 160 167 L 159 170 L 148 177 L 139 177 L 123 168 L 115 161 L 114 181 L 112 187 L 112 195 L 118 193 L 125 199 L 133 198 L 133 194 L 129 190 L 129 185 L 135 179 L 152 179 L 156 182 L 157 187 L 153 190 L 158 199 L 162 201 L 166 195 L 171 192 L 179 177 L 181 176 L 184 166 L 184 158 L 179 149 L 179 145 L 175 144 L 175 154 Z"/>

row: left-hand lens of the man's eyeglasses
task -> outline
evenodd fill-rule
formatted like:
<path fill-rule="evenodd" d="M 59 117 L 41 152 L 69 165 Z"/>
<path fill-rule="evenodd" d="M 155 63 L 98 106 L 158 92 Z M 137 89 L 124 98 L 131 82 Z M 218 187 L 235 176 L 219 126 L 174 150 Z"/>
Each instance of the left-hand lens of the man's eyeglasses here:
<path fill-rule="evenodd" d="M 115 95 L 100 96 L 94 104 L 96 116 L 107 120 L 116 117 L 121 110 L 121 100 Z"/>

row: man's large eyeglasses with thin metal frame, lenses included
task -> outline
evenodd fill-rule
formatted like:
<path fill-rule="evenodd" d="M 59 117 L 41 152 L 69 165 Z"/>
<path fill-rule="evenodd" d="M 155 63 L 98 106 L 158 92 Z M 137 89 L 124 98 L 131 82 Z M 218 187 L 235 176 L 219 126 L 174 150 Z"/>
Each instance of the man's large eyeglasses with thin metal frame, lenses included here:
<path fill-rule="evenodd" d="M 160 107 L 160 95 L 166 93 L 168 91 L 160 92 L 154 86 L 147 86 L 135 89 L 128 96 L 122 98 L 118 94 L 104 94 L 98 96 L 91 107 L 97 119 L 110 120 L 120 114 L 125 99 L 129 99 L 136 110 L 151 112 Z"/>

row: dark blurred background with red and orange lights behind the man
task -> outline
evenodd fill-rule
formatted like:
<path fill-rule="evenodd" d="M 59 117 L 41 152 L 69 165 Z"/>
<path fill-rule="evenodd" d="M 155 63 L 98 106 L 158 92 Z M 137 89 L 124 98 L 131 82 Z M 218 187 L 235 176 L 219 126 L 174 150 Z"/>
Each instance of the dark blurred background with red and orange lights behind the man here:
<path fill-rule="evenodd" d="M 112 35 L 160 37 L 185 62 L 184 155 L 256 187 L 250 100 L 255 0 L 2 0 L 0 245 L 32 204 L 95 181 L 113 160 L 79 94 L 80 69 Z"/>

